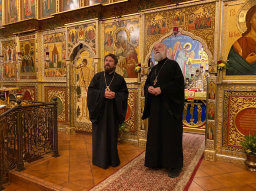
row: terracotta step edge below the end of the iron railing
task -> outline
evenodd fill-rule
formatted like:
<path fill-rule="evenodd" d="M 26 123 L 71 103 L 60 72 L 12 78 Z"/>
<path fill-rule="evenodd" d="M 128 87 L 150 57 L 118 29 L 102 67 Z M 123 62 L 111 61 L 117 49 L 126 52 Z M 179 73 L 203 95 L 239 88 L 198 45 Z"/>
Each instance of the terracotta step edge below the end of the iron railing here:
<path fill-rule="evenodd" d="M 37 178 L 24 172 L 17 172 L 14 169 L 9 173 L 9 181 L 25 190 L 19 191 L 72 191 L 60 185 Z M 6 188 L 6 186 L 5 186 Z M 13 190 L 12 190 L 13 191 Z"/>

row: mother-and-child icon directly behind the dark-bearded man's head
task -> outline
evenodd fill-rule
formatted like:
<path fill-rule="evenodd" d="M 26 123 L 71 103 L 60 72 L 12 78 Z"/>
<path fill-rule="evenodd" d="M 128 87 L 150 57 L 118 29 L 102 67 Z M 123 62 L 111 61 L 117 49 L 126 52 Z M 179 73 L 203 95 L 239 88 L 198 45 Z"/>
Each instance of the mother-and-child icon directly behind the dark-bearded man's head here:
<path fill-rule="evenodd" d="M 114 53 L 118 58 L 116 73 L 124 78 L 137 78 L 139 63 L 139 19 L 109 21 L 104 24 L 103 55 Z"/>

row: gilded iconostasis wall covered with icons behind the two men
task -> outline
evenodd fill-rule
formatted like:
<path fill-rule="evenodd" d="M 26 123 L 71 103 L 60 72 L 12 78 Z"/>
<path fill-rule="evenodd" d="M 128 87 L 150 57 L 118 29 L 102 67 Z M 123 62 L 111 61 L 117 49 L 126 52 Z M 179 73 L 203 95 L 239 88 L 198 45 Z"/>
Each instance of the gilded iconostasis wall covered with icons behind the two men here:
<path fill-rule="evenodd" d="M 152 2 L 156 4 L 156 0 L 150 2 L 152 7 Z M 252 85 L 255 74 L 246 73 L 256 71 L 255 61 L 247 61 L 247 56 L 240 54 L 243 47 L 237 48 L 249 27 L 246 13 L 255 13 L 253 0 L 201 3 L 184 0 L 172 6 L 163 3 L 164 7 L 152 10 L 147 10 L 152 8 L 150 4 L 141 3 L 123 10 L 121 16 L 114 16 L 122 9 L 110 0 L 66 0 L 63 4 L 58 0 L 10 0 L 0 1 L 1 8 L 9 7 L 8 3 L 14 6 L 0 10 L 3 27 L 20 21 L 30 29 L 36 22 L 33 18 L 43 20 L 38 21 L 40 27 L 35 25 L 31 32 L 13 28 L 14 35 L 0 39 L 1 87 L 18 87 L 17 91 L 21 91 L 26 100 L 52 101 L 57 96 L 60 131 L 92 131 L 86 107 L 87 88 L 94 74 L 103 71 L 104 56 L 113 53 L 118 57 L 116 72 L 125 78 L 129 88 L 125 119 L 129 131 L 123 133 L 123 141 L 145 147 L 148 120 L 141 120 L 145 102 L 143 87 L 150 68 L 157 64 L 153 59 L 153 46 L 163 42 L 167 45 L 168 58 L 180 65 L 184 81 L 190 80 L 198 70 L 209 71 L 205 91 L 195 92 L 192 98 L 185 94 L 184 129 L 206 134 L 205 158 L 208 160 L 216 160 L 221 155 L 244 157 L 239 145 L 244 135 L 243 124 L 233 125 L 233 116 L 240 116 L 240 109 L 230 108 L 228 100 L 239 94 L 247 96 L 249 105 L 255 103 L 252 98 L 256 90 Z M 99 3 L 105 9 L 102 18 L 88 19 L 98 13 L 81 8 L 98 7 Z M 111 3 L 116 3 L 116 9 L 106 6 Z M 135 7 L 144 11 L 131 14 Z M 250 9 L 253 10 L 248 11 Z M 57 20 L 52 20 L 53 16 Z M 26 18 L 27 22 L 23 21 Z M 231 65 L 234 62 L 231 57 L 239 54 L 246 65 L 245 71 L 239 69 L 242 61 L 232 65 L 232 70 L 218 69 L 218 60 L 230 59 Z M 135 70 L 138 65 L 139 72 Z M 11 93 L 15 96 L 17 92 Z M 243 103 L 243 108 L 248 105 L 238 97 L 235 102 Z"/>

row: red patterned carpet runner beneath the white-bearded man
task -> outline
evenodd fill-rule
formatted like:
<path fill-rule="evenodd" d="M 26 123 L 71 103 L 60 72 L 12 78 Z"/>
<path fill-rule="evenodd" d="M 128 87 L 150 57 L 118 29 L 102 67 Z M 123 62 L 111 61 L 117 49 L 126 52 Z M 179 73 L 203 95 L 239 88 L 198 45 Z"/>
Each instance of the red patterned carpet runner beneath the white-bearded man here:
<path fill-rule="evenodd" d="M 168 177 L 167 169 L 144 167 L 143 152 L 90 191 L 183 191 L 203 155 L 204 141 L 204 135 L 183 133 L 184 167 L 177 178 Z"/>

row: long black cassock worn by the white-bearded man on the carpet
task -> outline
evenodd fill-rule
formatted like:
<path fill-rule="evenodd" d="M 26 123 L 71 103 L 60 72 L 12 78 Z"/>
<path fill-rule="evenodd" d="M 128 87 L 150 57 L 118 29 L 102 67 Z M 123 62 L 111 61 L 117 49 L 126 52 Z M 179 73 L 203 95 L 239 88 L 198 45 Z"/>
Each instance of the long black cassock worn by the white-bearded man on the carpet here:
<path fill-rule="evenodd" d="M 156 85 L 153 85 L 159 71 Z M 150 86 L 160 87 L 162 94 L 150 94 Z M 149 117 L 145 166 L 182 168 L 182 113 L 185 97 L 184 77 L 178 63 L 168 58 L 160 61 L 157 67 L 151 69 L 144 91 L 145 107 L 142 119 Z"/>

